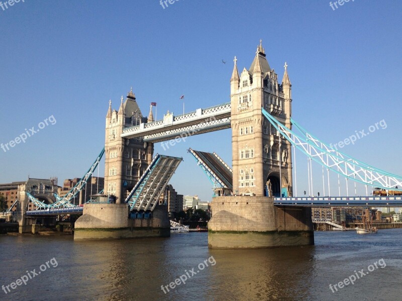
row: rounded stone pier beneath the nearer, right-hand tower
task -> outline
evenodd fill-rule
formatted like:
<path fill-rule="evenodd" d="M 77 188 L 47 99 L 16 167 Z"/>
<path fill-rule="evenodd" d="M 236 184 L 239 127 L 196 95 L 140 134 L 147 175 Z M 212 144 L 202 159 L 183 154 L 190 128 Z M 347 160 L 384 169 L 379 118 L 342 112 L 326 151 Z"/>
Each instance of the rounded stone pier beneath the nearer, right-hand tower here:
<path fill-rule="evenodd" d="M 253 249 L 314 245 L 311 209 L 276 207 L 273 197 L 220 196 L 212 201 L 208 246 Z"/>

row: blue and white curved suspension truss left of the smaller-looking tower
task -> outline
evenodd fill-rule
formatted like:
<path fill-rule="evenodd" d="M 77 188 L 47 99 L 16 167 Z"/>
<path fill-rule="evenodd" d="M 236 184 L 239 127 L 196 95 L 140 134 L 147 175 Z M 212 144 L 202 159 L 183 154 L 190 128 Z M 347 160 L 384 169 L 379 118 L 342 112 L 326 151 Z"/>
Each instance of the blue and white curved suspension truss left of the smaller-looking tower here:
<path fill-rule="evenodd" d="M 100 151 L 99 155 L 96 157 L 95 161 L 89 167 L 87 172 L 84 174 L 84 176 L 81 178 L 81 180 L 73 187 L 71 188 L 70 191 L 64 196 L 60 197 L 56 193 L 53 195 L 56 197 L 56 203 L 54 204 L 45 204 L 41 202 L 39 199 L 37 199 L 35 196 L 33 196 L 31 193 L 26 192 L 29 200 L 36 206 L 36 209 L 48 209 L 48 208 L 72 208 L 75 207 L 75 205 L 71 204 L 71 200 L 76 197 L 76 195 L 82 190 L 82 188 L 85 187 L 86 182 L 88 179 L 92 176 L 93 171 L 96 169 L 97 165 L 99 164 L 100 159 L 102 159 L 103 155 L 105 153 L 105 148 Z"/>

